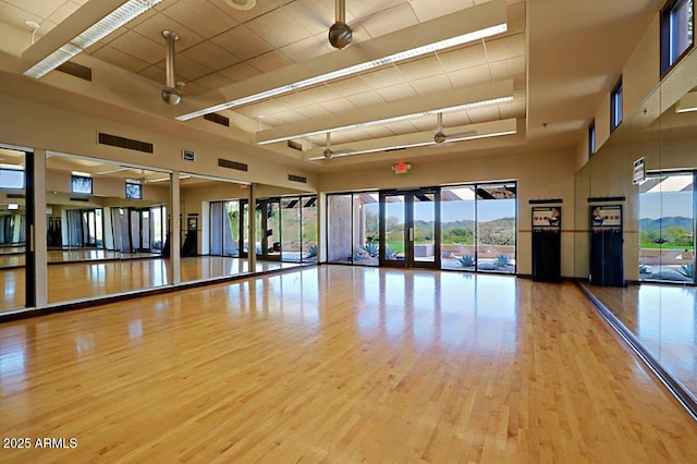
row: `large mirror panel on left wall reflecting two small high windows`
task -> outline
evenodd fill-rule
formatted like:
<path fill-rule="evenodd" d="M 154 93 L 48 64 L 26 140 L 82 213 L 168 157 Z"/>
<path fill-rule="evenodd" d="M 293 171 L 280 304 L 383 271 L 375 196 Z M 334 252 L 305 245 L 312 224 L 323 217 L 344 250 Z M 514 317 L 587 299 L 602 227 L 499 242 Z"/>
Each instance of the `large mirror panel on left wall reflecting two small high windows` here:
<path fill-rule="evenodd" d="M 50 154 L 48 303 L 171 283 L 170 173 Z"/>

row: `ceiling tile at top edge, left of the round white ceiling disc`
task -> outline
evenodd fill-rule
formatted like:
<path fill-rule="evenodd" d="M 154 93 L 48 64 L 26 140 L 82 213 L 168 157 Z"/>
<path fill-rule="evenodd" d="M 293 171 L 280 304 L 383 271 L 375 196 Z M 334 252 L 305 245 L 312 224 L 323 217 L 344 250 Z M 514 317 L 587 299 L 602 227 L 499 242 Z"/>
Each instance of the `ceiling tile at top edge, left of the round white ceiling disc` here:
<path fill-rule="evenodd" d="M 163 14 L 180 24 L 185 24 L 206 39 L 239 24 L 213 4 L 201 0 L 180 0 L 164 9 Z"/>

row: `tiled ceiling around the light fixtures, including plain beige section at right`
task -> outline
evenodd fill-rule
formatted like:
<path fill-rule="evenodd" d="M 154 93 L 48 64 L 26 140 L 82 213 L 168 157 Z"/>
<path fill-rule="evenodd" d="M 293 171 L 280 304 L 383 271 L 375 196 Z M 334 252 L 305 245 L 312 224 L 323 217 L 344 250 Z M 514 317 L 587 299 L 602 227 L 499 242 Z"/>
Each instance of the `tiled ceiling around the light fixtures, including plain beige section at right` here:
<path fill-rule="evenodd" d="M 35 21 L 41 25 L 37 32 L 40 40 L 86 1 L 0 0 L 0 22 L 29 34 L 24 22 Z M 428 27 L 430 20 L 476 9 L 485 2 L 346 0 L 346 22 L 353 28 L 351 47 L 362 47 L 416 24 Z M 359 111 L 367 118 L 370 107 L 406 99 L 428 101 L 429 96 L 443 91 L 510 80 L 512 101 L 447 113 L 443 125 L 460 131 L 469 124 L 513 118 L 518 121 L 517 135 L 409 152 L 421 159 L 442 160 L 466 156 L 474 149 L 571 148 L 583 137 L 603 95 L 661 4 L 662 0 L 506 0 L 508 32 L 504 34 L 221 113 L 231 118 L 236 130 L 249 134 L 245 142 L 253 144 L 254 132 L 259 129 L 311 123 Z M 249 11 L 231 9 L 224 0 L 163 0 L 86 53 L 151 81 L 152 88 L 162 87 L 166 76 L 161 32 L 174 30 L 180 35 L 176 81 L 185 83 L 184 100 L 195 101 L 284 66 L 342 53 L 332 49 L 327 39 L 333 22 L 333 0 L 258 0 Z M 131 98 L 133 107 L 124 103 L 124 111 L 147 111 L 146 107 L 137 108 L 140 101 L 133 101 L 146 99 L 138 95 L 145 90 L 137 82 L 134 80 L 132 89 L 126 83 L 117 90 L 135 95 Z M 94 94 L 90 95 L 94 98 Z M 133 96 L 124 95 L 126 97 Z M 147 98 L 159 99 L 159 95 Z M 352 143 L 379 147 L 395 137 L 432 134 L 436 125 L 436 117 L 429 115 L 332 133 L 331 138 L 337 149 Z M 231 137 L 240 139 L 239 134 Z M 322 146 L 325 137 L 316 136 L 311 144 L 307 139 L 298 142 L 310 148 Z M 264 148 L 303 160 L 307 169 L 320 171 L 384 159 L 383 154 L 374 154 L 304 161 L 303 155 L 288 148 L 285 143 Z"/>

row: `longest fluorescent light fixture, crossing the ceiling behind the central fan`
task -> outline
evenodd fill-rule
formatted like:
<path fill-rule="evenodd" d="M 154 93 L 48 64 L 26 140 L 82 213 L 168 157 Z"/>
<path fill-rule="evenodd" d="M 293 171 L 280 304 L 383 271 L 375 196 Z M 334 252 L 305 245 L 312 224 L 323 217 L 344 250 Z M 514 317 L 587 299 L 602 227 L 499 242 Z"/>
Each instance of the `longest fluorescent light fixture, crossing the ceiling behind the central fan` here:
<path fill-rule="evenodd" d="M 482 21 L 479 21 L 479 16 L 482 17 Z M 474 23 L 479 24 L 482 22 L 485 24 L 484 26 L 481 27 L 474 26 Z M 465 24 L 465 23 L 469 23 L 469 24 Z M 436 33 L 421 34 L 421 32 L 426 30 L 429 27 L 435 29 Z M 460 30 L 468 30 L 468 32 L 454 35 L 453 30 L 455 29 L 458 32 Z M 255 101 L 283 95 L 290 91 L 310 87 L 325 82 L 334 81 L 341 77 L 354 75 L 371 69 L 383 66 L 386 64 L 391 64 L 391 63 L 407 60 L 411 58 L 420 57 L 426 53 L 440 51 L 440 50 L 463 45 L 469 41 L 479 40 L 485 37 L 504 33 L 505 30 L 508 30 L 506 15 L 505 15 L 505 0 L 492 0 L 490 2 L 463 10 L 460 12 L 460 14 L 454 13 L 448 16 L 441 16 L 441 17 L 431 20 L 429 22 L 418 24 L 416 26 L 412 26 L 406 29 L 398 30 L 395 33 L 388 34 L 382 37 L 378 37 L 374 40 L 362 44 L 360 46 L 363 48 L 360 50 L 359 50 L 359 47 L 356 47 L 356 48 L 351 47 L 342 51 L 342 53 L 344 54 L 341 57 L 342 58 L 344 57 L 347 58 L 348 56 L 353 57 L 351 60 L 358 61 L 355 64 L 344 65 L 339 69 L 327 71 L 327 72 L 320 71 L 316 75 L 309 75 L 305 78 L 299 78 L 292 83 L 276 85 L 276 86 L 272 86 L 271 88 L 262 89 L 259 91 L 253 90 L 248 95 L 231 98 L 225 102 L 215 105 L 215 106 L 209 106 L 204 109 L 199 109 L 196 111 L 188 112 L 186 114 L 179 115 L 176 117 L 176 119 L 179 121 L 187 121 L 193 118 L 197 118 L 199 115 L 207 114 L 210 112 L 221 111 L 221 110 L 239 107 L 241 105 L 252 103 Z M 409 34 L 413 36 L 412 40 L 405 40 L 409 37 Z M 442 37 L 442 34 L 453 34 L 453 35 L 448 37 Z M 438 35 L 441 35 L 441 37 L 438 37 Z M 429 38 L 424 38 L 421 36 L 428 36 Z M 426 41 L 431 38 L 432 38 L 432 41 L 429 41 L 423 45 L 416 45 L 415 47 L 412 47 L 407 50 L 399 50 L 399 46 L 396 46 L 398 50 L 394 52 L 387 52 L 387 54 L 384 56 L 380 56 L 378 58 L 367 60 L 367 61 L 360 61 L 364 59 L 363 57 L 365 57 L 366 54 L 367 56 L 379 54 L 381 51 L 378 51 L 378 50 L 384 50 L 384 49 L 389 50 L 390 48 L 394 49 L 395 44 L 406 44 L 406 46 L 408 46 L 409 41 L 412 42 Z M 372 49 L 370 48 L 371 44 L 376 44 L 376 47 Z M 356 50 L 356 51 L 354 52 L 353 50 Z M 307 70 L 321 69 L 322 66 L 331 68 L 332 64 L 329 62 L 332 59 L 334 59 L 334 57 L 335 54 L 329 53 L 327 56 L 321 56 L 321 57 L 317 57 L 317 59 L 309 60 L 309 62 L 296 63 L 295 65 L 291 65 L 291 66 L 295 66 L 298 70 L 298 73 L 302 75 L 303 73 L 305 74 L 308 73 Z M 326 63 L 322 63 L 322 61 L 325 61 Z M 281 69 L 279 70 L 279 73 L 286 73 L 289 69 L 290 66 L 286 66 L 286 69 Z M 277 75 L 280 75 L 280 74 L 277 74 Z M 262 87 L 264 85 L 267 85 L 266 82 L 270 83 L 271 80 L 265 81 L 264 84 L 259 83 L 258 86 Z M 272 85 L 272 84 L 268 84 L 268 85 Z M 244 88 L 235 84 L 233 84 L 230 87 L 234 89 Z M 224 89 L 221 89 L 221 90 L 224 90 Z"/>

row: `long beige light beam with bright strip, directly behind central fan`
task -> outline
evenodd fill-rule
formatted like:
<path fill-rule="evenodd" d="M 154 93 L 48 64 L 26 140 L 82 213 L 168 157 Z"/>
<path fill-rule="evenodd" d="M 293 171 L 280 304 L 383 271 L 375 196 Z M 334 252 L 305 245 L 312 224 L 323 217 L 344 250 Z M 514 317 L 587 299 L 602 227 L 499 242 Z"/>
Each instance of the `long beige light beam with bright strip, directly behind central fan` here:
<path fill-rule="evenodd" d="M 376 39 L 331 52 L 307 62 L 295 63 L 269 73 L 256 82 L 233 84 L 227 88 L 239 96 L 228 101 L 176 117 L 188 121 L 215 111 L 259 101 L 371 69 L 456 47 L 508 30 L 505 0 L 491 0 L 445 16 L 396 30 Z M 408 47 L 408 48 L 404 48 Z M 289 76 L 303 76 L 288 82 Z M 235 91 L 236 90 L 236 91 Z"/>

